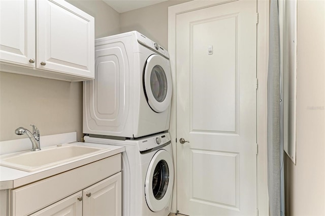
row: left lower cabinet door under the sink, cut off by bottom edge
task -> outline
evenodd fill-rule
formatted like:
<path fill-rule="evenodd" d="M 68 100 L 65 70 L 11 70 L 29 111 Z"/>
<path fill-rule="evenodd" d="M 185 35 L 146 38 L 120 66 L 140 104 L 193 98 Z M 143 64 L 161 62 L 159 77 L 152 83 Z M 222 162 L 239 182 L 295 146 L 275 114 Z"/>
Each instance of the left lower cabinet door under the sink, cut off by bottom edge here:
<path fill-rule="evenodd" d="M 82 192 L 75 193 L 65 199 L 62 199 L 42 210 L 37 211 L 32 216 L 44 215 L 44 216 L 63 216 L 63 215 L 82 215 Z"/>

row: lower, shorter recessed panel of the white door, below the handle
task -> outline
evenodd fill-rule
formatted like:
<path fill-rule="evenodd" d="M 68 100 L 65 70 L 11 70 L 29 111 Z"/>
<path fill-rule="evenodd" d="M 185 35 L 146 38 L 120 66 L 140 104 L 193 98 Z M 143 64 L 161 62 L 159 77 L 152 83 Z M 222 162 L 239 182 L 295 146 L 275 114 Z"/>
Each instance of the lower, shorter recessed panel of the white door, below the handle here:
<path fill-rule="evenodd" d="M 203 172 L 202 166 L 209 161 L 209 169 L 219 171 L 221 174 L 217 182 L 210 182 L 210 179 L 202 179 L 200 176 L 191 176 L 191 201 L 239 211 L 239 153 L 191 148 L 191 162 L 193 157 L 201 157 L 202 164 L 190 163 L 191 170 Z M 231 172 L 223 172 L 225 167 Z M 202 192 L 207 191 L 210 193 L 210 199 L 201 196 Z M 217 191 L 223 193 L 217 194 Z"/>

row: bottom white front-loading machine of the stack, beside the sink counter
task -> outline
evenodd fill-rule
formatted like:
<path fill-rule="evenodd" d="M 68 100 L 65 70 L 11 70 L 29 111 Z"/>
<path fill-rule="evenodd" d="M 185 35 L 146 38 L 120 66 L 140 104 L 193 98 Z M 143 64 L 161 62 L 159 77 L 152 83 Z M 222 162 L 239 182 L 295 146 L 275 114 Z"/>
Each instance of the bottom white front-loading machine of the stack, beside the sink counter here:
<path fill-rule="evenodd" d="M 169 133 L 134 140 L 89 136 L 84 140 L 125 147 L 122 153 L 122 215 L 167 216 L 170 213 L 174 165 Z"/>

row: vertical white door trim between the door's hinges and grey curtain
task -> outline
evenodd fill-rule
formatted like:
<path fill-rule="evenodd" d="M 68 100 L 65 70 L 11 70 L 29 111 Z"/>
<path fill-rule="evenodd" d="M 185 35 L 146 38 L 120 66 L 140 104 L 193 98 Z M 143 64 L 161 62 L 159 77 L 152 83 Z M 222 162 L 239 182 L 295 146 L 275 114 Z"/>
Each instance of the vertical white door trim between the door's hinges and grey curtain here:
<path fill-rule="evenodd" d="M 269 61 L 269 1 L 257 1 L 257 207 L 269 215 L 267 187 L 267 72 Z"/>

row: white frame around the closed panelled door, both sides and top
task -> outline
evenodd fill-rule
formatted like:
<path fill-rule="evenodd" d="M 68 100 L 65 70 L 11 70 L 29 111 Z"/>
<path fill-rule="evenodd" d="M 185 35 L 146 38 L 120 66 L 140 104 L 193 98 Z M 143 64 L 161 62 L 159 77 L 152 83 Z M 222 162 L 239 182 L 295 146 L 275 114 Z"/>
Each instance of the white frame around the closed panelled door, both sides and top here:
<path fill-rule="evenodd" d="M 170 54 L 171 74 L 173 83 L 171 121 L 169 132 L 171 134 L 173 161 L 177 171 L 176 148 L 176 16 L 193 10 L 234 2 L 238 0 L 210 0 L 190 1 L 168 8 L 168 50 Z M 256 92 L 257 110 L 257 212 L 256 215 L 269 215 L 269 197 L 267 188 L 267 71 L 269 56 L 269 1 L 257 1 L 257 66 L 256 77 L 258 86 Z M 177 172 L 175 172 L 172 212 L 177 212 Z"/>

